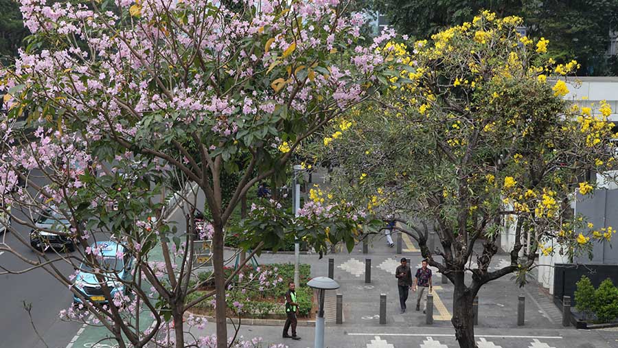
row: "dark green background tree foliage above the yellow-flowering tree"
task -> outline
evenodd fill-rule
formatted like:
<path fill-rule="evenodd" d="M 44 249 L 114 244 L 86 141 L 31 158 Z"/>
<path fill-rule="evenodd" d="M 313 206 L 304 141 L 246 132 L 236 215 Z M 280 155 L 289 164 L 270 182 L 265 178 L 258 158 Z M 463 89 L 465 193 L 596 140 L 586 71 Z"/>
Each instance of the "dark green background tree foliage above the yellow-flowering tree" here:
<path fill-rule="evenodd" d="M 472 21 L 483 9 L 499 16 L 522 16 L 529 36 L 545 37 L 549 55 L 558 62 L 577 59 L 580 75 L 615 75 L 615 59 L 606 60 L 610 31 L 618 30 L 617 0 L 375 0 L 400 34 L 428 38 L 439 30 Z"/>

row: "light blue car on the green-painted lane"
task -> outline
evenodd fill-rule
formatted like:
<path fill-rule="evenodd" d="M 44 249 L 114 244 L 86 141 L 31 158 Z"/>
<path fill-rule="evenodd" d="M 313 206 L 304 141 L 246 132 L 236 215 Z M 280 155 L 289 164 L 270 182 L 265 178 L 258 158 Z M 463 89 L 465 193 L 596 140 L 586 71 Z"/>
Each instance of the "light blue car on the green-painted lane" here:
<path fill-rule="evenodd" d="M 133 257 L 126 253 L 126 249 L 122 244 L 112 241 L 96 242 L 91 248 L 98 248 L 102 259 L 98 259 L 101 265 L 101 274 L 106 279 L 107 286 L 111 292 L 112 298 L 117 292 L 120 294 L 128 294 L 129 289 L 122 281 L 131 281 L 133 279 Z M 122 253 L 123 257 L 117 255 Z M 119 281 L 122 279 L 122 281 Z M 94 275 L 91 266 L 82 263 L 73 286 L 83 294 L 86 299 L 95 303 L 107 303 L 105 299 L 102 283 Z M 73 294 L 73 304 L 79 305 L 82 299 Z"/>

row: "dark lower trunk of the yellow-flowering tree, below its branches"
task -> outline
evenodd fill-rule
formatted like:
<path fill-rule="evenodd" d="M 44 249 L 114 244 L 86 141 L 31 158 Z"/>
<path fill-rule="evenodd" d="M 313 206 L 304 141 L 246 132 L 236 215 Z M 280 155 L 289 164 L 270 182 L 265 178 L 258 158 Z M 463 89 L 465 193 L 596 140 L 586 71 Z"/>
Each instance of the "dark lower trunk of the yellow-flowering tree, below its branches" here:
<path fill-rule="evenodd" d="M 463 281 L 455 283 L 453 292 L 453 318 L 450 320 L 455 327 L 455 339 L 460 348 L 477 347 L 474 342 L 474 312 L 472 312 L 474 295 L 464 285 Z"/>

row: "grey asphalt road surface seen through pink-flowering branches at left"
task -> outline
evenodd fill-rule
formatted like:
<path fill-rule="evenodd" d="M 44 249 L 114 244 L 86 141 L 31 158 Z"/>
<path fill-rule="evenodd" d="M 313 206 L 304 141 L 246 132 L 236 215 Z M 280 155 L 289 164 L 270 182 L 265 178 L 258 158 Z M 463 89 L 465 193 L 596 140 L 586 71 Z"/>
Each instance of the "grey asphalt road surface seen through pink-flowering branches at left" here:
<path fill-rule="evenodd" d="M 34 172 L 33 174 L 36 177 L 40 173 Z M 34 182 L 39 185 L 44 183 L 42 178 L 34 178 Z M 203 194 L 198 195 L 198 206 L 203 207 L 204 202 Z M 12 213 L 18 218 L 25 218 L 19 209 L 14 208 Z M 179 231 L 185 231 L 183 216 L 183 209 L 176 209 L 168 220 L 177 221 Z M 30 248 L 21 244 L 14 235 L 17 233 L 25 240 L 29 240 L 30 228 L 16 224 L 16 222 L 13 222 L 12 227 L 16 231 L 0 235 L 2 242 L 26 257 L 34 257 L 35 254 Z M 10 270 L 24 270 L 29 267 L 23 260 L 8 252 L 0 254 L 0 265 Z M 73 272 L 69 264 L 58 263 L 57 267 L 65 275 Z M 2 308 L 0 348 L 65 348 L 82 326 L 80 323 L 60 320 L 58 313 L 60 310 L 69 308 L 73 295 L 43 269 L 31 270 L 19 275 L 1 275 L 0 289 L 3 301 L 0 306 Z M 32 322 L 43 340 L 38 337 L 30 322 L 30 316 L 23 308 L 24 301 L 32 304 Z"/>

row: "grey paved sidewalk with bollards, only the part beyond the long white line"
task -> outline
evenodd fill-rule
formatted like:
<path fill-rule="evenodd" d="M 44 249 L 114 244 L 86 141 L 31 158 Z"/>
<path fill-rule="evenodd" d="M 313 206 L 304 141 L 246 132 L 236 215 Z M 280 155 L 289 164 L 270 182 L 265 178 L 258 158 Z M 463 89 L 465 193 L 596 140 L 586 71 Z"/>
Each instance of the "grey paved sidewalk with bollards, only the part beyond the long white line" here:
<path fill-rule="evenodd" d="M 334 279 L 341 288 L 327 292 L 325 301 L 326 325 L 336 325 L 335 295 L 343 294 L 343 324 L 338 327 L 358 327 L 379 325 L 380 294 L 387 295 L 388 327 L 426 327 L 425 316 L 416 312 L 416 293 L 410 292 L 407 301 L 408 310 L 400 314 L 399 295 L 396 286 L 395 269 L 401 257 L 411 259 L 411 268 L 420 267 L 421 255 L 417 246 L 404 237 L 402 254 L 396 254 L 396 248 L 389 248 L 383 238 L 376 238 L 370 243 L 369 253 L 363 254 L 362 244 L 356 246 L 352 253 L 347 251 L 325 255 L 319 259 L 316 254 L 301 255 L 301 263 L 311 265 L 312 277 L 328 275 L 328 258 L 334 259 Z M 232 251 L 227 251 L 230 255 Z M 497 269 L 508 264 L 508 255 L 496 255 L 491 268 Z M 365 283 L 365 259 L 371 259 L 371 283 Z M 294 255 L 262 254 L 260 264 L 292 263 Z M 434 286 L 434 324 L 431 327 L 451 329 L 450 318 L 453 308 L 453 285 L 442 283 L 442 275 L 433 270 Z M 469 281 L 469 279 L 468 279 Z M 518 296 L 526 297 L 525 323 L 528 327 L 558 329 L 561 323 L 560 312 L 551 303 L 549 294 L 542 292 L 536 283 L 529 283 L 525 288 L 518 288 L 510 276 L 492 281 L 479 292 L 479 327 L 484 328 L 518 328 Z M 553 308 L 553 310 L 551 310 Z"/>

